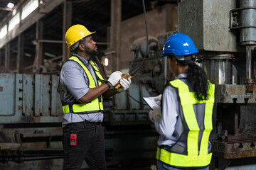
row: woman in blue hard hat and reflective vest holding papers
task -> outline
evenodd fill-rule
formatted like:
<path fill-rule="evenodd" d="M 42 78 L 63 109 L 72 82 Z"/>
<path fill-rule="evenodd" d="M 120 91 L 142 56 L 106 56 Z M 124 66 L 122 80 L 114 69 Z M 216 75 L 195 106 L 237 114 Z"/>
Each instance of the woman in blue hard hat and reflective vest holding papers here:
<path fill-rule="evenodd" d="M 149 118 L 159 133 L 156 152 L 158 169 L 209 169 L 212 157 L 210 132 L 215 115 L 215 86 L 195 63 L 198 53 L 193 40 L 181 33 L 171 35 L 161 57 L 176 77 L 166 83 L 161 111 Z"/>

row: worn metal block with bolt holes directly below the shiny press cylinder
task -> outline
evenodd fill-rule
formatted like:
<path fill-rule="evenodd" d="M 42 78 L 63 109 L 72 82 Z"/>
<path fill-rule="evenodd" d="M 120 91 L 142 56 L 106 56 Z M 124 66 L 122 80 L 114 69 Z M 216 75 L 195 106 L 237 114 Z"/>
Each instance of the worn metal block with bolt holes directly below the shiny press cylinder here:
<path fill-rule="evenodd" d="M 215 85 L 218 103 L 255 103 L 256 86 L 246 85 Z"/>

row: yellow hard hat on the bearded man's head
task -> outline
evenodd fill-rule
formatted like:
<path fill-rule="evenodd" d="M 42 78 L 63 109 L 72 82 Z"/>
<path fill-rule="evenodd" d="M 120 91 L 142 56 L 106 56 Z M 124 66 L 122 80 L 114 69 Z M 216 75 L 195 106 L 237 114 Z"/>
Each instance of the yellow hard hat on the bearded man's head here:
<path fill-rule="evenodd" d="M 85 28 L 85 26 L 77 24 L 68 28 L 67 32 L 65 33 L 65 41 L 68 47 L 71 47 L 75 44 L 75 42 L 78 42 L 79 40 L 82 40 L 82 38 L 85 38 L 86 36 L 95 32 L 91 33 L 89 30 L 87 30 L 87 28 Z"/>

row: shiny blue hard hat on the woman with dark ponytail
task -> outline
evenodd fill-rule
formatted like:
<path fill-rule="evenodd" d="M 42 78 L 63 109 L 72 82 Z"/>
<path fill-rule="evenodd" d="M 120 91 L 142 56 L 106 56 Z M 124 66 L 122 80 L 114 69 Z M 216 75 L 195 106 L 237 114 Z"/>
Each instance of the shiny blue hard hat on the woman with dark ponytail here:
<path fill-rule="evenodd" d="M 182 33 L 174 33 L 164 43 L 161 57 L 166 57 L 166 55 L 175 55 L 177 57 L 184 55 L 193 55 L 198 52 L 199 51 L 193 43 L 193 40 L 188 37 L 188 35 Z M 180 60 L 179 57 L 178 60 Z"/>

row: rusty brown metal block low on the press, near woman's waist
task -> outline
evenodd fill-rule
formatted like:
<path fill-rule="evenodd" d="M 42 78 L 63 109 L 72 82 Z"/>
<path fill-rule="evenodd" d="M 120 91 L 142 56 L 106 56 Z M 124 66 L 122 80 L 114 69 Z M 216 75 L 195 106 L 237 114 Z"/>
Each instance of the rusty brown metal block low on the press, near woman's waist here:
<path fill-rule="evenodd" d="M 256 137 L 231 136 L 225 140 L 216 140 L 213 145 L 213 155 L 224 159 L 256 157 Z"/>

